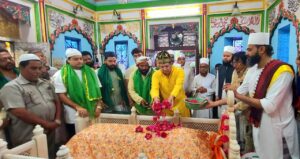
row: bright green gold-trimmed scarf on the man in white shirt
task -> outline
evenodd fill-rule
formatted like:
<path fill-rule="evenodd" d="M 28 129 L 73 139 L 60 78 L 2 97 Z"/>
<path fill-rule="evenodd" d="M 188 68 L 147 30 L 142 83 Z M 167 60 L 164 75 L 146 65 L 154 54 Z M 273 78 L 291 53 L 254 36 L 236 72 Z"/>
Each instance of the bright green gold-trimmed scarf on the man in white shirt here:
<path fill-rule="evenodd" d="M 98 100 L 101 98 L 97 76 L 89 66 L 81 67 L 82 82 L 70 64 L 61 68 L 61 75 L 69 98 L 85 108 L 90 117 L 94 117 Z"/>

